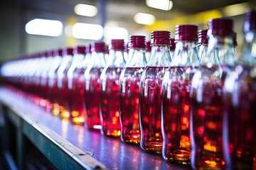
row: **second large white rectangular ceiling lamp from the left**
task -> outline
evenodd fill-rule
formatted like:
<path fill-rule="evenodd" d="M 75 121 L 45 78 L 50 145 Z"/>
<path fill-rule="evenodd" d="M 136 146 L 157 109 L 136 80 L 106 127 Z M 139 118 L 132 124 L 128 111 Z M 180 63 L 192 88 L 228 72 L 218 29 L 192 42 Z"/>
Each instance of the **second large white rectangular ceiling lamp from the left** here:
<path fill-rule="evenodd" d="M 75 38 L 100 40 L 103 35 L 103 28 L 96 24 L 75 23 L 72 29 L 72 34 Z"/>

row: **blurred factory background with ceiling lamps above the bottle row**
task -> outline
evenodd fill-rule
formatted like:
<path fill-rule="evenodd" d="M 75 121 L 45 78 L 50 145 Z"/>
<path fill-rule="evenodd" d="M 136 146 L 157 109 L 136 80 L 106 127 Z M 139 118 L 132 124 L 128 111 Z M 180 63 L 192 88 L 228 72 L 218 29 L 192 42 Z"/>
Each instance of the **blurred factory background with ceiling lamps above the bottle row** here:
<path fill-rule="evenodd" d="M 244 13 L 255 0 L 4 0 L 0 6 L 0 62 L 58 47 L 85 45 L 178 24 L 207 28 L 209 18 L 232 17 L 242 44 Z"/>

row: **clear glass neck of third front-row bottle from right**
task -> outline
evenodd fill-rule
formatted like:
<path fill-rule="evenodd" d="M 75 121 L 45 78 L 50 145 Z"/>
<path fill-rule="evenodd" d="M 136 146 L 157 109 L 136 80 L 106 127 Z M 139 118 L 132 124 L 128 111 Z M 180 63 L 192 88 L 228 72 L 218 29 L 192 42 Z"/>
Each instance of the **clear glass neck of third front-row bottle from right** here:
<path fill-rule="evenodd" d="M 198 67 L 199 65 L 196 41 L 178 40 L 171 66 Z"/>

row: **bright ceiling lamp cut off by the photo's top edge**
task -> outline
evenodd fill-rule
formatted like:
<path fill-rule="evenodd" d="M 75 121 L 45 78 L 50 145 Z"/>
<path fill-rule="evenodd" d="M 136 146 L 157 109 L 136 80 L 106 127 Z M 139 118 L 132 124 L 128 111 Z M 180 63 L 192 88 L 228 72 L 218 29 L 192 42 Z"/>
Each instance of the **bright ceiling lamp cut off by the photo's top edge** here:
<path fill-rule="evenodd" d="M 146 0 L 146 5 L 151 8 L 158 8 L 164 11 L 169 11 L 174 6 L 171 0 Z"/>

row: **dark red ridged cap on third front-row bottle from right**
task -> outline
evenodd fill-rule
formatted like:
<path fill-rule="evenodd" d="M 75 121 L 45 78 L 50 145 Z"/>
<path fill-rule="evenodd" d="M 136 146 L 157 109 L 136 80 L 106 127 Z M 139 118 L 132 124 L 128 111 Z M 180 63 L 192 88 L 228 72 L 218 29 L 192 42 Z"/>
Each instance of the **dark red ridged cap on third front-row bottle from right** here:
<path fill-rule="evenodd" d="M 175 40 L 198 40 L 198 26 L 196 25 L 177 25 L 175 27 Z"/>

